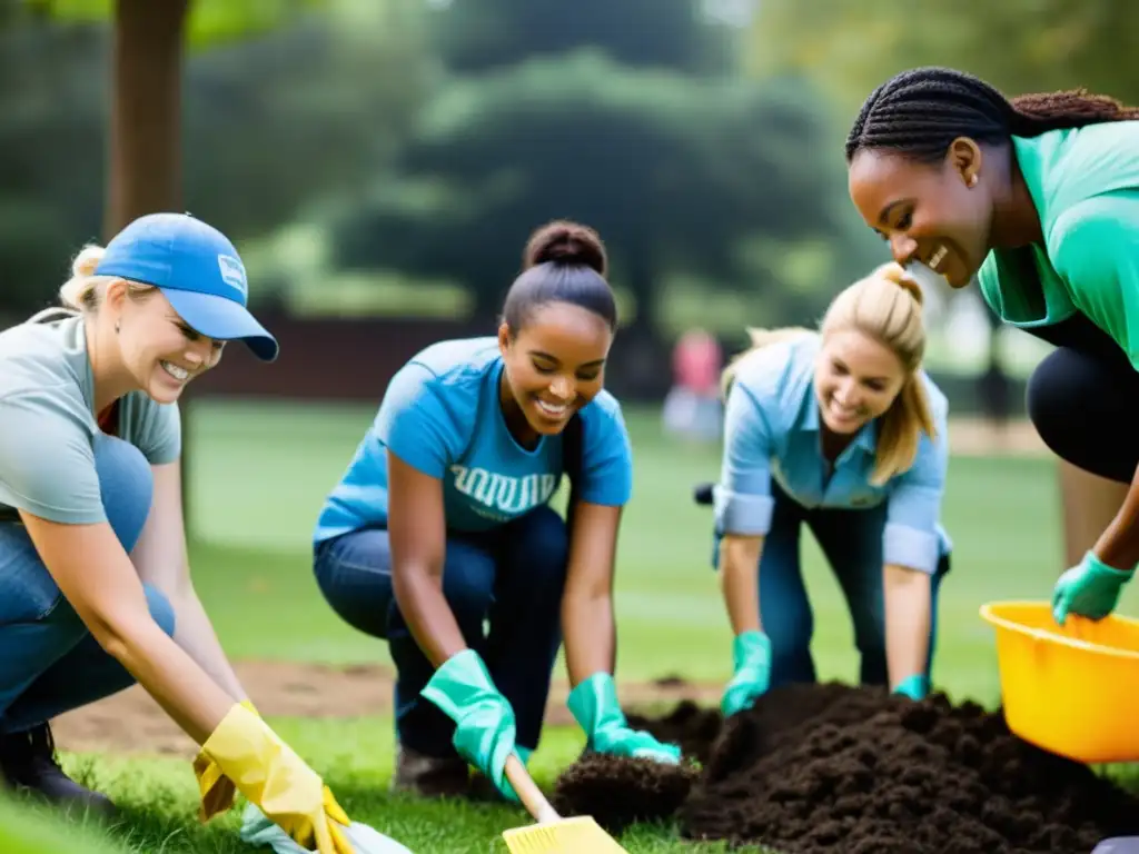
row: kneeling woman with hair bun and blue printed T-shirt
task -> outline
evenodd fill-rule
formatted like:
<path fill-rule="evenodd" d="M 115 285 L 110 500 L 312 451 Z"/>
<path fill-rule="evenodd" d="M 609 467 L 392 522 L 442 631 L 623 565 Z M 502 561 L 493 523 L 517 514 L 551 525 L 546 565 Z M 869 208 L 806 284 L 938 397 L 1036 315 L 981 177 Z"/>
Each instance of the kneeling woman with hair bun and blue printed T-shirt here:
<path fill-rule="evenodd" d="M 612 676 L 632 461 L 603 391 L 617 323 L 605 249 L 555 222 L 524 266 L 497 338 L 441 342 L 392 378 L 314 536 L 329 603 L 390 644 L 393 785 L 423 795 L 467 791 L 469 762 L 515 797 L 503 765 L 538 747 L 563 630 L 588 747 L 678 757 L 629 728 Z M 565 470 L 568 529 L 548 506 Z"/>

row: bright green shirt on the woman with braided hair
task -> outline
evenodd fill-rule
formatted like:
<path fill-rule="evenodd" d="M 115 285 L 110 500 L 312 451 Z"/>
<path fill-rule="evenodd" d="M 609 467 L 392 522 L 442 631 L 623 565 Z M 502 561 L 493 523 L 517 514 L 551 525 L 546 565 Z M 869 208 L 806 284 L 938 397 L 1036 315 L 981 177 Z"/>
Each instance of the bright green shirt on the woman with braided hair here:
<path fill-rule="evenodd" d="M 993 249 L 981 293 L 1010 326 L 1080 312 L 1139 369 L 1139 122 L 1013 137 L 1043 241 Z"/>

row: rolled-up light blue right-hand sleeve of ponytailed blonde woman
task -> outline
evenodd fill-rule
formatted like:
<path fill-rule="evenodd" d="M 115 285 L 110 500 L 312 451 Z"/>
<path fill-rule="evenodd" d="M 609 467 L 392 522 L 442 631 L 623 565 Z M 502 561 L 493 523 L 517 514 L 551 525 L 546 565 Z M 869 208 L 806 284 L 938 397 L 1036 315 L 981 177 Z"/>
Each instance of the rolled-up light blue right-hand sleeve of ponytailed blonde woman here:
<path fill-rule="evenodd" d="M 885 563 L 933 574 L 941 557 L 942 495 L 949 468 L 949 436 L 944 414 L 937 418 L 937 438 L 923 435 L 917 458 L 890 494 L 883 542 Z"/>

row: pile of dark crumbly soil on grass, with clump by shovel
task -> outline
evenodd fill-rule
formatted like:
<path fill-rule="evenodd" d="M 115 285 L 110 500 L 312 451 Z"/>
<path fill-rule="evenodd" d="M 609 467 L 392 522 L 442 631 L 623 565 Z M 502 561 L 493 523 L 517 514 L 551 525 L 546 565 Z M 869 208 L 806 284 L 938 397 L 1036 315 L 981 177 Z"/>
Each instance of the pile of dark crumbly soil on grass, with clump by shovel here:
<path fill-rule="evenodd" d="M 633 815 L 679 818 L 690 839 L 784 854 L 1070 854 L 1139 834 L 1139 798 L 1016 738 L 999 713 L 942 695 L 912 703 L 882 689 L 787 685 L 722 724 L 691 704 L 630 721 L 704 762 L 675 815 L 675 769 L 587 766 L 598 757 L 559 780 L 563 814 L 616 829 L 646 820 Z"/>

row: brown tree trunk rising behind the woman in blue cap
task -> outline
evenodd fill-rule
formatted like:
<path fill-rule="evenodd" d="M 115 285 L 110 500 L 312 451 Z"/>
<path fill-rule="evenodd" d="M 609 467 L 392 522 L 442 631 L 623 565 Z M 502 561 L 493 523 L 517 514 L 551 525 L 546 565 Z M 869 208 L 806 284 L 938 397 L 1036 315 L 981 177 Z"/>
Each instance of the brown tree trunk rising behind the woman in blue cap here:
<path fill-rule="evenodd" d="M 182 40 L 189 0 L 116 0 L 106 240 L 148 213 L 182 207 Z M 189 420 L 182 399 L 182 422 Z M 187 430 L 182 507 L 189 528 Z"/>

